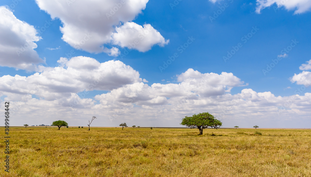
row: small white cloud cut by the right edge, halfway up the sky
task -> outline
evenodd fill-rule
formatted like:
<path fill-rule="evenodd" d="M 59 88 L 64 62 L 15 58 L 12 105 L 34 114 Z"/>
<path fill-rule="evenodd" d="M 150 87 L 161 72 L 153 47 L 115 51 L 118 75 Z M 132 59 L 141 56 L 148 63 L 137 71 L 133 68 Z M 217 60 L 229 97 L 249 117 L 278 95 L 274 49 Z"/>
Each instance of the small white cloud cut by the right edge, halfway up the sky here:
<path fill-rule="evenodd" d="M 311 60 L 306 61 L 306 64 L 302 64 L 299 66 L 300 70 L 304 70 L 299 74 L 294 74 L 293 77 L 290 78 L 292 83 L 296 82 L 298 85 L 311 86 L 311 72 L 305 71 L 311 69 Z"/>

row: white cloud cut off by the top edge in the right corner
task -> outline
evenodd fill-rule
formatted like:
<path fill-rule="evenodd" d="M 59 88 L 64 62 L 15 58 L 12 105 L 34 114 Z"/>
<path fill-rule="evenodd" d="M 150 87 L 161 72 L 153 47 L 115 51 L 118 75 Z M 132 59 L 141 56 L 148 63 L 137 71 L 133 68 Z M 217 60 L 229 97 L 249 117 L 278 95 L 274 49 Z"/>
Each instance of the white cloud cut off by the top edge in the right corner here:
<path fill-rule="evenodd" d="M 262 9 L 270 7 L 275 3 L 277 7 L 285 7 L 287 10 L 295 10 L 294 14 L 304 13 L 311 8 L 310 0 L 257 0 L 256 12 L 260 13 Z"/>

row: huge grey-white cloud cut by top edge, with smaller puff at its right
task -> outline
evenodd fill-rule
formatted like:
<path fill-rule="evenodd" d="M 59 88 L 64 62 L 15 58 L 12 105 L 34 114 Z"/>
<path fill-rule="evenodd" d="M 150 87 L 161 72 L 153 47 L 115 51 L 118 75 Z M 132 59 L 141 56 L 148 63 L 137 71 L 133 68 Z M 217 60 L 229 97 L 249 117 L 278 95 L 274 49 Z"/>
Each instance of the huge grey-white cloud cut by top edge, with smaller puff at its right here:
<path fill-rule="evenodd" d="M 36 2 L 39 8 L 49 13 L 52 18 L 59 18 L 62 21 L 63 27 L 60 27 L 63 33 L 62 39 L 70 46 L 91 53 L 105 52 L 117 56 L 120 53 L 118 48 L 109 48 L 107 45 L 117 44 L 128 47 L 128 42 L 134 42 L 128 38 L 134 40 L 138 38 L 135 36 L 132 38 L 131 34 L 138 35 L 143 30 L 142 26 L 129 21 L 134 20 L 136 15 L 146 8 L 148 0 L 36 0 Z M 119 27 L 116 27 L 118 25 Z M 145 25 L 148 28 L 151 26 Z M 153 27 L 150 29 L 150 34 L 140 41 L 141 44 L 132 48 L 146 51 L 155 44 L 163 46 L 168 42 Z M 118 35 L 114 31 L 121 34 Z"/>

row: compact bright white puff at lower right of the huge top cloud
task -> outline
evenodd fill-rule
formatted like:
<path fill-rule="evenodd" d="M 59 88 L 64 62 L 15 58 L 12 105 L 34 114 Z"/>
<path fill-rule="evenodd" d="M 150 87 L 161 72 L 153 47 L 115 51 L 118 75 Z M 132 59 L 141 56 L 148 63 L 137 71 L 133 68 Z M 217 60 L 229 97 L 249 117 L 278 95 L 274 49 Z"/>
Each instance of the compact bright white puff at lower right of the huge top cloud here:
<path fill-rule="evenodd" d="M 142 27 L 134 22 L 116 27 L 116 33 L 112 37 L 114 44 L 141 52 L 150 50 L 156 44 L 164 46 L 169 43 L 169 40 L 165 40 L 151 24 L 144 24 Z"/>

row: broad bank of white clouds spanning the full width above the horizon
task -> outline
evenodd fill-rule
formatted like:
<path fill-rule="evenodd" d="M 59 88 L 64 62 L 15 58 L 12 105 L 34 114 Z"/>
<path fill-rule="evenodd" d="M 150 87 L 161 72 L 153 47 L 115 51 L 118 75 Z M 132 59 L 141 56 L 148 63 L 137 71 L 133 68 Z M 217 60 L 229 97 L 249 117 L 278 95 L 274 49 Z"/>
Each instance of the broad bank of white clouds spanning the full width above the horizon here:
<path fill-rule="evenodd" d="M 50 124 L 55 117 L 62 117 L 71 126 L 80 126 L 95 115 L 99 118 L 97 126 L 117 126 L 120 122 L 179 126 L 184 116 L 199 112 L 215 115 L 226 127 L 252 127 L 254 122 L 260 127 L 301 127 L 299 121 L 310 122 L 311 93 L 281 97 L 245 88 L 232 95 L 230 87 L 245 86 L 232 73 L 188 69 L 177 75 L 178 83 L 149 86 L 137 71 L 120 61 L 99 63 L 74 57 L 61 58 L 58 63 L 64 68 L 41 67 L 41 73 L 28 77 L 0 77 L 0 97 L 15 108 L 12 125 Z M 101 78 L 98 73 L 102 73 Z M 84 89 L 109 92 L 94 99 L 81 98 Z"/>

